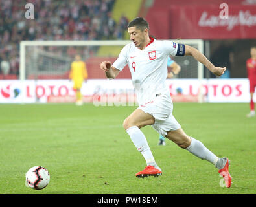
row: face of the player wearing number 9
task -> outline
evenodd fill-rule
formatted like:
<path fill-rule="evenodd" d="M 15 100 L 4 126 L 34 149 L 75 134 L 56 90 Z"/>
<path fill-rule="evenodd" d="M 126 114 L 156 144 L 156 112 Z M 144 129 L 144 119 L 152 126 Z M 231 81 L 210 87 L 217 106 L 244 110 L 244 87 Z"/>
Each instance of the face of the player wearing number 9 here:
<path fill-rule="evenodd" d="M 128 27 L 128 33 L 130 35 L 130 40 L 134 43 L 136 47 L 143 48 L 146 43 L 146 30 L 141 31 L 136 27 Z"/>

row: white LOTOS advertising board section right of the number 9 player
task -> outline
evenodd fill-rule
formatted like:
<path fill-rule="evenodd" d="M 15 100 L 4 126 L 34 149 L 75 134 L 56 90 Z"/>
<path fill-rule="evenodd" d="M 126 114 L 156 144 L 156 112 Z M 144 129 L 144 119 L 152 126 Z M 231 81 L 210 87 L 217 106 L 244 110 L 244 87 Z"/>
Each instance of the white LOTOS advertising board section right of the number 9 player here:
<path fill-rule="evenodd" d="M 179 94 L 198 96 L 202 94 L 204 102 L 209 103 L 244 103 L 250 101 L 249 83 L 246 78 L 209 80 L 176 79 L 167 80 L 172 99 Z"/>

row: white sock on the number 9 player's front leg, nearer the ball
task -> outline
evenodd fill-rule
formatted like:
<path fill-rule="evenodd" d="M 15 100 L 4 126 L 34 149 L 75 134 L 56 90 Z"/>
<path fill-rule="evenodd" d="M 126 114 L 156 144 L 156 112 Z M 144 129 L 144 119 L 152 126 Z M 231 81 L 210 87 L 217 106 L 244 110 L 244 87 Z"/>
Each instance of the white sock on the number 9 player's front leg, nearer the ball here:
<path fill-rule="evenodd" d="M 134 142 L 135 147 L 137 150 L 143 155 L 143 157 L 146 160 L 147 165 L 157 166 L 154 157 L 152 155 L 152 152 L 150 150 L 150 147 L 148 146 L 148 142 L 146 141 L 146 137 L 137 126 L 132 126 L 129 129 L 126 129 L 126 132 L 128 135 L 130 135 L 130 138 L 132 142 Z"/>

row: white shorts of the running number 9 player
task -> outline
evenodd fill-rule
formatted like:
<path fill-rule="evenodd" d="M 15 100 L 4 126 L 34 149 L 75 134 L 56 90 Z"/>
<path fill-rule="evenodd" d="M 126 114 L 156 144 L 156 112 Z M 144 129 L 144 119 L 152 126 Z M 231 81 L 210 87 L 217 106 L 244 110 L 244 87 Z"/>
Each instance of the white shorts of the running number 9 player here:
<path fill-rule="evenodd" d="M 139 109 L 154 116 L 155 123 L 152 127 L 162 136 L 181 127 L 172 115 L 173 104 L 170 94 L 156 96 L 151 102 L 140 105 Z"/>

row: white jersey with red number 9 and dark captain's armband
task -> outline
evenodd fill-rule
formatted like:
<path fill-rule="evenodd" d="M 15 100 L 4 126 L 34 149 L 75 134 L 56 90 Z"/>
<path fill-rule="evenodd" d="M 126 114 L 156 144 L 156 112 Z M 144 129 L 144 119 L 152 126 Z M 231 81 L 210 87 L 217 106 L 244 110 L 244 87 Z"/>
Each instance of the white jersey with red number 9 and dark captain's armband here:
<path fill-rule="evenodd" d="M 144 50 L 138 49 L 132 42 L 125 45 L 113 63 L 113 67 L 120 71 L 128 64 L 139 105 L 152 101 L 156 94 L 170 94 L 165 83 L 167 57 L 185 54 L 184 45 L 150 39 Z"/>

